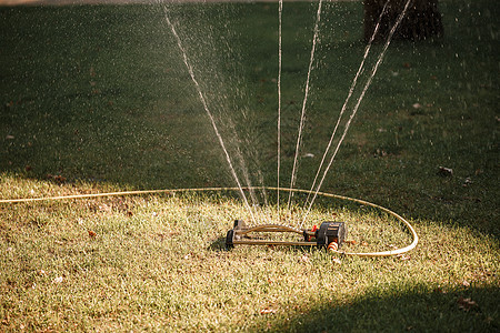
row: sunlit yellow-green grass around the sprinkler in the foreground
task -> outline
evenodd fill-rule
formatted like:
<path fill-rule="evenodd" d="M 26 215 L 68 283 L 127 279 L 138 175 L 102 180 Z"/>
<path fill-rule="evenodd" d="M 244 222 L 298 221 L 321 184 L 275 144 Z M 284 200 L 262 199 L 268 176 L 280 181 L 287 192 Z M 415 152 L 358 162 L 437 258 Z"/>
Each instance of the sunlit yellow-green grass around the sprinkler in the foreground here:
<path fill-rule="evenodd" d="M 9 182 L 26 191 L 37 185 L 19 178 Z M 42 195 L 74 192 L 68 185 L 46 186 Z M 377 251 L 410 239 L 391 218 L 342 206 L 332 202 L 313 210 L 311 221 L 346 221 L 348 240 L 357 240 L 347 250 Z M 444 311 L 450 321 L 447 329 L 498 323 L 496 306 L 487 305 L 489 296 L 476 291 L 500 286 L 494 239 L 420 221 L 420 244 L 404 256 L 342 258 L 288 246 L 238 245 L 224 251 L 226 232 L 241 216 L 248 216 L 241 202 L 219 193 L 3 205 L 3 329 L 308 330 L 302 323 L 310 312 L 347 311 L 373 294 L 400 294 L 402 306 L 413 309 L 414 300 L 404 295 L 414 292 L 417 303 L 438 302 L 436 311 Z M 431 294 L 419 296 L 420 292 Z M 471 295 L 478 307 L 460 310 L 459 297 Z M 386 305 L 380 311 L 394 311 L 390 302 L 381 304 Z M 424 315 L 439 319 L 433 311 Z M 372 321 L 381 315 L 368 313 Z M 406 329 L 407 313 L 393 315 L 389 327 L 376 322 L 364 327 Z M 354 323 L 348 314 L 339 321 L 343 327 Z M 426 323 L 428 329 L 443 324 Z M 319 330 L 330 323 L 310 325 Z M 422 329 L 423 323 L 410 320 L 408 326 Z"/>

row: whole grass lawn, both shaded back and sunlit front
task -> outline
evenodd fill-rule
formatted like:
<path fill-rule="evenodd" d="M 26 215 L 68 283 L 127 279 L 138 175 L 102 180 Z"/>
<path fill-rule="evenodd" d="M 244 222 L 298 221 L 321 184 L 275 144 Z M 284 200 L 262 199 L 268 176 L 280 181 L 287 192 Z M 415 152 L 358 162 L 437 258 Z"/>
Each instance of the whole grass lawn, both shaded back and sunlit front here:
<path fill-rule="evenodd" d="M 410 219 L 420 243 L 408 256 L 223 251 L 231 221 L 249 220 L 229 192 L 2 204 L 0 330 L 498 331 L 498 8 L 440 8 L 443 39 L 391 44 L 323 186 Z M 274 185 L 276 4 L 172 10 L 237 172 L 239 145 L 249 179 Z M 0 11 L 1 199 L 233 185 L 159 7 Z M 283 178 L 314 11 L 283 12 Z M 359 3 L 326 4 L 300 188 L 359 65 L 361 17 Z M 352 251 L 411 241 L 340 201 L 320 199 L 308 223 L 332 216 Z"/>

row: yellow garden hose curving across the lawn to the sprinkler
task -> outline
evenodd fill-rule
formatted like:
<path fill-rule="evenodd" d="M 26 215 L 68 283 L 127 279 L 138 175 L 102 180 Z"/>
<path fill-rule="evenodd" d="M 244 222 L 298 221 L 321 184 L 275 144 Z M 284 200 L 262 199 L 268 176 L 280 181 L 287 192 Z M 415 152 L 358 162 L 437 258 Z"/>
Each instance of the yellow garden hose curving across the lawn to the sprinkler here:
<path fill-rule="evenodd" d="M 288 191 L 293 193 L 306 193 L 310 194 L 312 191 L 309 190 L 301 190 L 301 189 L 284 189 L 284 188 L 273 188 L 273 186 L 248 186 L 242 188 L 242 190 L 269 190 L 269 191 Z M 110 192 L 110 193 L 92 193 L 92 194 L 73 194 L 73 195 L 60 195 L 60 196 L 44 196 L 44 198 L 23 198 L 23 199 L 2 199 L 0 200 L 0 204 L 2 203 L 28 203 L 28 202 L 36 202 L 36 201 L 56 201 L 56 200 L 70 200 L 70 199 L 90 199 L 90 198 L 102 198 L 102 196 L 122 196 L 122 195 L 140 195 L 140 194 L 157 194 L 157 193 L 183 193 L 183 192 L 220 192 L 220 191 L 240 191 L 239 188 L 194 188 L 194 189 L 164 189 L 164 190 L 138 190 L 138 191 L 123 191 L 123 192 Z M 333 199 L 340 199 L 346 201 L 351 201 L 359 203 L 361 205 L 368 205 L 371 208 L 374 208 L 377 210 L 383 211 L 389 215 L 392 215 L 400 222 L 402 222 L 408 230 L 411 233 L 411 236 L 413 241 L 411 244 L 397 250 L 390 250 L 390 251 L 381 251 L 381 252 L 344 252 L 338 250 L 338 246 L 331 245 L 328 246 L 328 251 L 334 254 L 340 255 L 356 255 L 356 256 L 366 256 L 366 258 L 377 258 L 377 256 L 392 256 L 392 255 L 402 255 L 411 250 L 413 250 L 418 242 L 419 238 L 417 235 L 417 232 L 414 231 L 413 226 L 408 222 L 404 218 L 397 214 L 396 212 L 378 205 L 376 203 L 371 203 L 361 199 L 354 199 L 349 198 L 344 195 L 339 194 L 332 194 L 327 192 L 318 192 L 317 193 L 320 196 L 324 198 L 333 198 Z M 297 232 L 297 233 L 303 233 L 304 231 L 301 231 L 297 228 L 289 226 L 289 225 L 280 225 L 280 224 L 263 224 L 263 225 L 257 225 L 251 229 L 248 229 L 244 231 L 244 233 L 254 231 L 278 231 L 278 232 Z M 298 245 L 302 245 L 303 242 L 297 242 Z M 293 245 L 293 244 L 292 244 Z M 328 244 L 330 245 L 330 244 Z"/>

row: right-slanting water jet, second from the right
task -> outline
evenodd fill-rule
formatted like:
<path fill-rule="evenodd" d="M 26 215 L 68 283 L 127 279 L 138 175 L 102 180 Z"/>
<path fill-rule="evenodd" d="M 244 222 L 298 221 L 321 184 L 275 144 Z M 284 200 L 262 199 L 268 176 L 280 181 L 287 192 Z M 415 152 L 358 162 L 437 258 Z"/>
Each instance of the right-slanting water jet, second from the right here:
<path fill-rule="evenodd" d="M 346 101 L 343 102 L 342 109 L 340 110 L 339 119 L 337 120 L 336 127 L 334 127 L 333 132 L 331 133 L 331 137 L 330 137 L 330 141 L 328 142 L 327 149 L 324 150 L 323 157 L 321 158 L 321 162 L 320 162 L 320 164 L 318 167 L 318 171 L 316 172 L 314 180 L 312 181 L 312 185 L 311 185 L 310 192 L 308 193 L 308 198 L 306 199 L 304 208 L 307 206 L 307 204 L 309 202 L 311 193 L 313 193 L 313 190 L 314 190 L 314 186 L 316 186 L 316 182 L 318 180 L 319 174 L 321 173 L 321 170 L 323 168 L 323 163 L 324 163 L 324 161 L 327 159 L 327 155 L 328 155 L 328 153 L 330 151 L 331 144 L 333 143 L 333 139 L 334 139 L 334 137 L 337 134 L 337 129 L 339 128 L 340 121 L 342 120 L 343 113 L 346 112 L 347 104 L 349 103 L 349 101 L 350 101 L 350 99 L 352 97 L 352 93 L 354 92 L 356 85 L 358 84 L 359 75 L 363 72 L 364 61 L 367 60 L 368 54 L 370 53 L 371 44 L 373 43 L 374 37 L 377 36 L 377 32 L 379 31 L 380 21 L 382 20 L 383 14 L 386 13 L 386 8 L 387 8 L 388 3 L 389 3 L 389 0 L 386 1 L 386 3 L 383 4 L 382 11 L 380 12 L 380 16 L 379 16 L 379 18 L 377 20 L 376 28 L 373 30 L 373 34 L 371 36 L 367 47 L 364 48 L 363 59 L 362 59 L 362 61 L 361 61 L 361 63 L 360 63 L 360 65 L 358 68 L 358 72 L 356 73 L 354 79 L 352 80 L 351 87 L 349 89 L 348 97 L 347 97 Z"/>

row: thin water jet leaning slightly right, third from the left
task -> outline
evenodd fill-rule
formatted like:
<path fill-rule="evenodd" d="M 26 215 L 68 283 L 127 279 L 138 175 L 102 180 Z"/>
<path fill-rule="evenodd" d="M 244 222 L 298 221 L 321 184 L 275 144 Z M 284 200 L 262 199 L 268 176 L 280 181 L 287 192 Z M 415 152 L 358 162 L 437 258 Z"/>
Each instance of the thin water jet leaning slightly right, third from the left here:
<path fill-rule="evenodd" d="M 308 102 L 308 95 L 309 95 L 309 81 L 311 78 L 311 71 L 312 71 L 312 63 L 314 61 L 314 51 L 316 51 L 316 42 L 318 39 L 318 33 L 319 33 L 319 22 L 321 20 L 321 4 L 322 4 L 322 0 L 319 0 L 318 3 L 318 11 L 316 13 L 316 23 L 314 23 L 314 32 L 312 36 L 312 48 L 311 48 L 311 57 L 309 60 L 309 69 L 308 69 L 308 77 L 306 80 L 306 91 L 304 91 L 304 97 L 303 97 L 303 101 L 302 101 L 302 111 L 300 114 L 300 123 L 299 123 L 299 133 L 297 135 L 297 144 L 296 144 L 296 155 L 293 158 L 293 168 L 292 168 L 292 173 L 291 173 L 291 179 L 290 179 L 290 192 L 288 195 L 288 209 L 290 209 L 290 202 L 291 202 L 291 195 L 292 195 L 292 189 L 296 184 L 296 178 L 297 178 L 297 159 L 299 155 L 299 148 L 300 148 L 300 142 L 302 140 L 302 130 L 303 130 L 303 122 L 304 122 L 304 114 L 306 114 L 306 104 Z"/>

